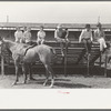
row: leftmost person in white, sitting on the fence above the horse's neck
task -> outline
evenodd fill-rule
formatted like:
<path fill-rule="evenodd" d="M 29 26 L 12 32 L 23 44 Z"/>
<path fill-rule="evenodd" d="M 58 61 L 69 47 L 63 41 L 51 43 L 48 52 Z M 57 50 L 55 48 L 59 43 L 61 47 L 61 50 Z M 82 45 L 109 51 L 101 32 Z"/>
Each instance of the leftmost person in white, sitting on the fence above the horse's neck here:
<path fill-rule="evenodd" d="M 17 27 L 17 31 L 14 32 L 14 38 L 16 38 L 16 42 L 20 43 L 22 38 L 23 38 L 23 33 L 20 30 L 20 27 Z"/>

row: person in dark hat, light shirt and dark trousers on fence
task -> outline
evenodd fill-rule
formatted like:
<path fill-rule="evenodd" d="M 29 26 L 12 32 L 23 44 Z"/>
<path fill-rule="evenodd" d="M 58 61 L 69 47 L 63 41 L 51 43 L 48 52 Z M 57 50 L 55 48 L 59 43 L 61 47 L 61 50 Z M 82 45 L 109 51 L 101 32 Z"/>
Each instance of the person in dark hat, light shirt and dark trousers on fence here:
<path fill-rule="evenodd" d="M 80 37 L 79 37 L 79 42 L 83 42 L 85 50 L 88 54 L 90 54 L 91 51 L 91 44 L 92 44 L 92 31 L 90 29 L 90 24 L 85 24 L 85 29 L 82 30 Z"/>

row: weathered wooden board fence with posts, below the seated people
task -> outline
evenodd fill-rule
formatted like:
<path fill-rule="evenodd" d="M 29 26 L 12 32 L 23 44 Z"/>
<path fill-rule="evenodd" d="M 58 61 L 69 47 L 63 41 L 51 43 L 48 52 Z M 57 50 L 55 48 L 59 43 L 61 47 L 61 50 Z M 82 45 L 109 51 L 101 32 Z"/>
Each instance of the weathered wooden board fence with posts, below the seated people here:
<path fill-rule="evenodd" d="M 101 53 L 99 50 L 99 43 L 93 43 L 91 49 L 91 56 L 84 58 L 84 44 L 79 42 L 70 42 L 68 46 L 68 50 L 65 51 L 64 46 L 64 58 L 61 56 L 60 51 L 60 44 L 56 41 L 46 42 L 46 44 L 53 47 L 57 52 L 57 60 L 52 62 L 52 68 L 62 68 L 64 74 L 67 75 L 67 69 L 68 68 L 77 68 L 77 67 L 84 67 L 88 70 L 89 74 L 89 68 L 94 65 L 94 62 L 100 58 L 99 64 L 101 67 Z M 105 62 L 105 61 L 104 61 Z M 12 67 L 13 68 L 13 60 L 11 54 L 3 50 L 1 56 L 1 73 L 4 74 L 4 67 L 7 65 L 7 69 Z M 33 67 L 38 65 L 38 68 L 42 68 L 42 63 L 40 61 L 37 61 Z M 105 64 L 107 67 L 107 64 Z"/>

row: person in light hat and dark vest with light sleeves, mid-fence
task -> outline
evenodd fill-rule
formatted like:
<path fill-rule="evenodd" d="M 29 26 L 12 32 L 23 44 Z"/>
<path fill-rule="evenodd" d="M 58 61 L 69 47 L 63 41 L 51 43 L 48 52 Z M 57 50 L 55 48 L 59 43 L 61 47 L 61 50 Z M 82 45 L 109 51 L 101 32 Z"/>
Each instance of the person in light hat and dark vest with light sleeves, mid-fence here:
<path fill-rule="evenodd" d="M 68 36 L 69 36 L 68 29 L 63 29 L 62 26 L 59 24 L 54 32 L 54 38 L 56 38 L 57 42 L 60 43 L 62 57 L 64 57 L 64 52 L 63 52 L 64 46 L 63 44 L 69 42 Z"/>

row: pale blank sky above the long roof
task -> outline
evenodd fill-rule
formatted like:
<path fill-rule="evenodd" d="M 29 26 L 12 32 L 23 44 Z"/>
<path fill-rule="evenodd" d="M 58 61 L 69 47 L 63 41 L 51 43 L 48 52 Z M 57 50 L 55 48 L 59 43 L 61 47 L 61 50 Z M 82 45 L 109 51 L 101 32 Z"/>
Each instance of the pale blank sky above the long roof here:
<path fill-rule="evenodd" d="M 0 1 L 0 22 L 36 23 L 111 23 L 111 2 L 3 2 Z"/>

